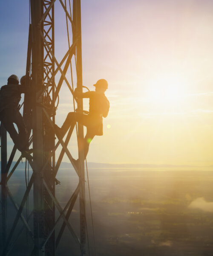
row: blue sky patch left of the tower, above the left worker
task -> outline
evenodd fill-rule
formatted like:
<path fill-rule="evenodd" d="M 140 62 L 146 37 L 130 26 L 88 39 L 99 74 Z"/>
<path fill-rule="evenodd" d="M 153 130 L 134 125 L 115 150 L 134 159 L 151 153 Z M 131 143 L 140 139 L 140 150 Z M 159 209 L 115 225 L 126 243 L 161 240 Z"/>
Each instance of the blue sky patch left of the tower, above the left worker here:
<path fill-rule="evenodd" d="M 20 2 L 22 4 L 20 4 Z M 0 84 L 11 74 L 23 75 L 29 29 L 28 1 L 0 2 Z"/>

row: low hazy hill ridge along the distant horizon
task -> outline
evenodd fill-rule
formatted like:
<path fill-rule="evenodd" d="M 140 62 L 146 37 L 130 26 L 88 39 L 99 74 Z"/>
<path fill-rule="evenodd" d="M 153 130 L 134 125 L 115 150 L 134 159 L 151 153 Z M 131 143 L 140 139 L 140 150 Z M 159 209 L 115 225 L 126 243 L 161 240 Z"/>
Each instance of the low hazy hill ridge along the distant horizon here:
<path fill-rule="evenodd" d="M 0 162 L 1 163 L 1 162 Z M 12 167 L 16 162 L 12 162 Z M 85 164 L 86 166 L 86 164 Z M 87 163 L 88 168 L 187 168 L 187 167 L 195 167 L 188 165 L 169 165 L 169 164 L 112 164 L 112 163 Z M 11 167 L 11 168 L 12 168 Z M 17 169 L 25 169 L 25 162 L 19 163 Z M 71 163 L 62 162 L 60 165 L 60 169 L 73 169 Z"/>

